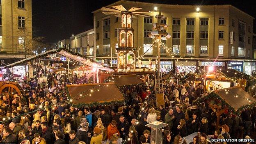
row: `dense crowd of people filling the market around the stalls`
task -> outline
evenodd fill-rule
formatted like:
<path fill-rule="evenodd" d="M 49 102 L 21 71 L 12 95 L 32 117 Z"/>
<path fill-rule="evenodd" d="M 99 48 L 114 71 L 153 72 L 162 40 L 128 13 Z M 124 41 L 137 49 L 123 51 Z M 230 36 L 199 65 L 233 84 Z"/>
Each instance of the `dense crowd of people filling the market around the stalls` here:
<path fill-rule="evenodd" d="M 65 89 L 73 80 L 72 75 L 48 73 L 47 81 L 24 81 L 22 95 L 1 95 L 0 143 L 152 144 L 151 129 L 145 125 L 161 121 L 168 124 L 162 129 L 163 144 L 185 144 L 184 137 L 195 133 L 190 144 L 210 144 L 209 139 L 250 139 L 255 122 L 255 107 L 240 116 L 227 111 L 216 130 L 215 110 L 207 103 L 193 104 L 203 95 L 203 86 L 194 82 L 165 81 L 165 105 L 158 107 L 152 79 L 146 85 L 120 87 L 123 105 L 74 107 Z"/>

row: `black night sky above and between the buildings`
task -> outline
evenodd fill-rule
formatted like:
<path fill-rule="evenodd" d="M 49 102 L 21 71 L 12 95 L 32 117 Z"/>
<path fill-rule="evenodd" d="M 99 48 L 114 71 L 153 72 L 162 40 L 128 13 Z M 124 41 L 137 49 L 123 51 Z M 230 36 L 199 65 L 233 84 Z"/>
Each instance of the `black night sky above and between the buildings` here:
<path fill-rule="evenodd" d="M 92 11 L 118 0 L 32 0 L 34 37 L 45 37 L 55 43 L 69 39 L 93 28 Z M 251 0 L 132 0 L 172 5 L 233 5 L 254 18 L 256 11 Z M 254 23 L 254 33 L 256 25 Z"/>

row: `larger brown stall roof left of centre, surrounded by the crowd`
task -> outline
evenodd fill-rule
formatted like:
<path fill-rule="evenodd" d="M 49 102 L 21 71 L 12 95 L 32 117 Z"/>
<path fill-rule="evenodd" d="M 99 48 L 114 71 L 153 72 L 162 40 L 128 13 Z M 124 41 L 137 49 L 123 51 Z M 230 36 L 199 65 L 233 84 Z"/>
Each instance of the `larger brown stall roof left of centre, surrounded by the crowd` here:
<path fill-rule="evenodd" d="M 114 82 L 102 83 L 101 85 L 67 85 L 67 87 L 69 89 L 69 95 L 73 98 L 73 104 L 92 102 L 103 103 L 110 101 L 122 101 L 124 99 Z M 93 92 L 91 92 L 91 89 Z M 82 97 L 80 98 L 81 93 Z M 91 96 L 89 96 L 89 94 L 91 94 Z"/>

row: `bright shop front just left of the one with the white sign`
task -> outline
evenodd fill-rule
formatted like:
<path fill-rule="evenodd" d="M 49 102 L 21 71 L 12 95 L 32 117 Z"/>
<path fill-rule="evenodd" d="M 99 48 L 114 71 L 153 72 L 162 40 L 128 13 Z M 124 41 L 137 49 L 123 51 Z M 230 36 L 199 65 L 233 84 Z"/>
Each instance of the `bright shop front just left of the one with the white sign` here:
<path fill-rule="evenodd" d="M 178 73 L 194 73 L 197 70 L 197 62 L 176 61 L 175 66 Z"/>

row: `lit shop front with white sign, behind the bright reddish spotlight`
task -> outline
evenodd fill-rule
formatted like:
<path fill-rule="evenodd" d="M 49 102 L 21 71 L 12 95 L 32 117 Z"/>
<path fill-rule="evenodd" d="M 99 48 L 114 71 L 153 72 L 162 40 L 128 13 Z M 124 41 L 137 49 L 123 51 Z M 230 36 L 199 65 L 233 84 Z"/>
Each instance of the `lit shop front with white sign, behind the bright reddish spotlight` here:
<path fill-rule="evenodd" d="M 226 62 L 198 62 L 198 66 L 205 70 L 216 70 L 226 66 Z"/>

